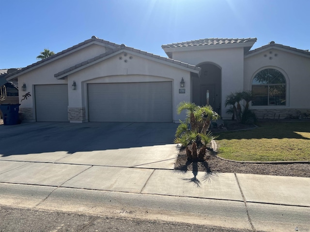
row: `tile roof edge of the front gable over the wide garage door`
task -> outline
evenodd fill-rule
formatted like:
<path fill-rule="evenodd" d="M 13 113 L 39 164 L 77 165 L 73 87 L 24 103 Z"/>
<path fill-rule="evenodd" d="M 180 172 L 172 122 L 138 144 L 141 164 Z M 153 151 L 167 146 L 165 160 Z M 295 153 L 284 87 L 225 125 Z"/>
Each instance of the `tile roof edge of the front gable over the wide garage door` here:
<path fill-rule="evenodd" d="M 81 69 L 83 66 L 86 66 L 86 65 L 89 65 L 89 64 L 92 64 L 92 63 L 94 64 L 94 63 L 96 63 L 96 61 L 100 62 L 101 60 L 103 60 L 104 58 L 108 57 L 109 55 L 112 55 L 112 54 L 114 54 L 114 53 L 116 53 L 118 51 L 122 51 L 122 50 L 131 51 L 131 52 L 134 52 L 134 53 L 141 54 L 143 56 L 159 59 L 159 60 L 162 60 L 164 62 L 168 62 L 168 63 L 174 64 L 174 65 L 180 65 L 180 66 L 185 67 L 187 69 L 191 69 L 193 71 L 197 71 L 197 73 L 199 73 L 201 71 L 201 68 L 197 67 L 195 65 L 187 64 L 187 63 L 181 62 L 179 60 L 175 60 L 175 59 L 171 59 L 171 58 L 167 58 L 167 57 L 161 57 L 161 56 L 155 55 L 153 53 L 145 52 L 145 51 L 142 51 L 142 50 L 139 50 L 139 49 L 135 49 L 133 47 L 127 47 L 124 44 L 121 44 L 119 47 L 116 47 L 116 48 L 114 48 L 112 50 L 109 50 L 109 51 L 107 51 L 107 52 L 105 52 L 105 53 L 103 53 L 103 54 L 101 54 L 99 56 L 96 56 L 94 58 L 85 60 L 84 62 L 78 63 L 75 66 L 72 66 L 72 67 L 70 67 L 68 69 L 65 69 L 65 70 L 63 70 L 63 71 L 61 71 L 59 73 L 54 74 L 54 76 L 58 77 L 58 78 L 61 78 L 61 76 L 63 77 L 67 73 L 73 72 L 76 69 Z"/>

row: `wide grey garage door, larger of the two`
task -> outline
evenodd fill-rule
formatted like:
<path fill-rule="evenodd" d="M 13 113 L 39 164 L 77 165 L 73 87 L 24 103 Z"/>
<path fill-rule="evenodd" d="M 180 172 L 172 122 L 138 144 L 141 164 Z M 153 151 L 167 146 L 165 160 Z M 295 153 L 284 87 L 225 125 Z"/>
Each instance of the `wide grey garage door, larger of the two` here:
<path fill-rule="evenodd" d="M 172 122 L 172 82 L 88 84 L 91 122 Z"/>

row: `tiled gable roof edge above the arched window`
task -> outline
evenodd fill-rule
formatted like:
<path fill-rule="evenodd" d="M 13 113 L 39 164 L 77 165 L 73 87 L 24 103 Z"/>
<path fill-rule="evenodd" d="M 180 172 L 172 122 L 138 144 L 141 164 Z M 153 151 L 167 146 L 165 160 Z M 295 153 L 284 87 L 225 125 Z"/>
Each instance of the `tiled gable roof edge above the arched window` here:
<path fill-rule="evenodd" d="M 275 48 L 275 49 L 279 49 L 282 51 L 286 51 L 286 52 L 290 52 L 296 55 L 300 55 L 300 56 L 304 56 L 304 57 L 308 57 L 310 58 L 310 52 L 309 50 L 302 50 L 302 49 L 298 49 L 298 48 L 294 48 L 294 47 L 290 47 L 290 46 L 285 46 L 283 44 L 279 44 L 279 43 L 275 43 L 273 41 L 271 41 L 270 43 L 268 43 L 267 45 L 263 45 L 262 47 L 256 48 L 254 50 L 248 51 L 245 54 L 245 58 L 251 57 L 253 55 L 262 53 L 266 50 L 269 50 L 271 48 Z"/>

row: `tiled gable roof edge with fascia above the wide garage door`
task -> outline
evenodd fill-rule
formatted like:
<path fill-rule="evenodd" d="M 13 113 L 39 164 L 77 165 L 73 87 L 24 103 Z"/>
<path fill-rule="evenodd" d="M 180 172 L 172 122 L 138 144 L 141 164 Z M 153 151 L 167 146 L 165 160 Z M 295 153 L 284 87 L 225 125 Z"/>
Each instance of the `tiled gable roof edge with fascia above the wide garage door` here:
<path fill-rule="evenodd" d="M 139 49 L 135 49 L 133 47 L 127 47 L 124 44 L 122 44 L 119 47 L 116 47 L 112 50 L 107 51 L 106 53 L 103 53 L 103 54 L 96 56 L 94 58 L 85 60 L 81 63 L 76 64 L 75 66 L 72 66 L 68 69 L 65 69 L 65 70 L 59 72 L 59 73 L 56 73 L 56 74 L 54 74 L 54 76 L 57 79 L 62 79 L 69 74 L 78 72 L 79 70 L 87 68 L 91 65 L 94 65 L 94 64 L 101 62 L 103 60 L 106 60 L 108 58 L 114 57 L 114 56 L 116 56 L 120 53 L 123 53 L 123 52 L 126 52 L 128 54 L 132 54 L 132 55 L 136 55 L 136 56 L 140 56 L 142 58 L 151 59 L 151 60 L 154 60 L 156 62 L 160 62 L 160 63 L 166 64 L 166 65 L 170 65 L 170 66 L 173 66 L 173 67 L 176 67 L 179 69 L 183 69 L 183 70 L 186 70 L 189 72 L 193 72 L 193 73 L 200 73 L 200 70 L 201 70 L 200 67 L 196 67 L 195 65 L 190 65 L 190 64 L 178 61 L 178 60 L 171 59 L 171 58 L 161 57 L 161 56 L 155 55 L 153 53 L 148 53 L 148 52 L 145 52 L 145 51 L 142 51 Z"/>

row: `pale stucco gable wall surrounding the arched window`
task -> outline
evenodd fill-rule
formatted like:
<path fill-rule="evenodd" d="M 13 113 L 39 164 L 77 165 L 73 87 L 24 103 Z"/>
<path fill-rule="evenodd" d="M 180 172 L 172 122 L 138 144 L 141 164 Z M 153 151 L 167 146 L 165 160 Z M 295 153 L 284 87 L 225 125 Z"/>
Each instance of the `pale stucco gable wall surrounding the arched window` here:
<path fill-rule="evenodd" d="M 259 71 L 273 68 L 279 70 L 287 81 L 286 106 L 252 106 L 252 109 L 270 108 L 310 108 L 310 57 L 293 54 L 288 51 L 269 48 L 245 58 L 244 87 L 251 89 L 254 75 Z"/>

